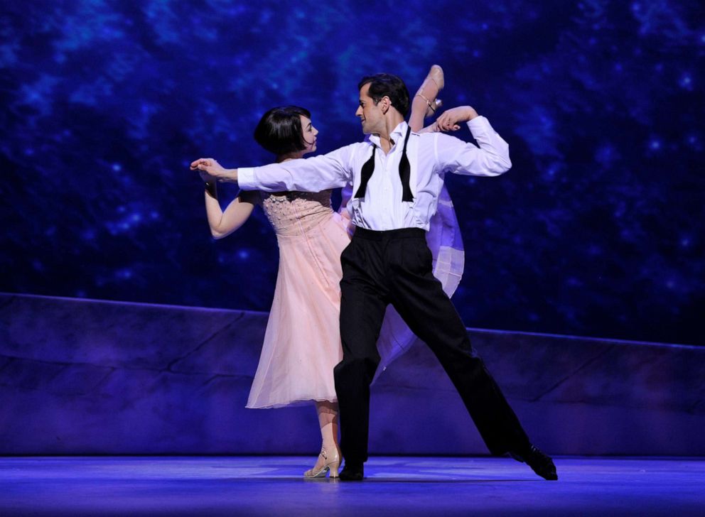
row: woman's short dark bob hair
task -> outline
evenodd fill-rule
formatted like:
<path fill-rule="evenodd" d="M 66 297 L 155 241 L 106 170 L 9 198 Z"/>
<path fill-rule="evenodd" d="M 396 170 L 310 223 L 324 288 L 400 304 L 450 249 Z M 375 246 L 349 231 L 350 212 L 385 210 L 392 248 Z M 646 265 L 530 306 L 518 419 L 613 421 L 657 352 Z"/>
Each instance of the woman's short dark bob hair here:
<path fill-rule="evenodd" d="M 276 156 L 296 153 L 306 148 L 300 115 L 311 118 L 311 112 L 298 106 L 272 108 L 262 115 L 254 129 L 254 139 Z"/>

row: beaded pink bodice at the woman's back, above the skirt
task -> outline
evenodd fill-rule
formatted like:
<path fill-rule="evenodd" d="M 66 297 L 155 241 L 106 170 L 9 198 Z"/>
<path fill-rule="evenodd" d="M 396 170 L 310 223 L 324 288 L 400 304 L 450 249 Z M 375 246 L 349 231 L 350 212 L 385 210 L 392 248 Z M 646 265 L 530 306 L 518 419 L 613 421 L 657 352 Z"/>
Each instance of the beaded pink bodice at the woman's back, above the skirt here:
<path fill-rule="evenodd" d="M 323 192 L 260 192 L 262 208 L 277 236 L 300 235 L 333 214 L 331 190 Z"/>

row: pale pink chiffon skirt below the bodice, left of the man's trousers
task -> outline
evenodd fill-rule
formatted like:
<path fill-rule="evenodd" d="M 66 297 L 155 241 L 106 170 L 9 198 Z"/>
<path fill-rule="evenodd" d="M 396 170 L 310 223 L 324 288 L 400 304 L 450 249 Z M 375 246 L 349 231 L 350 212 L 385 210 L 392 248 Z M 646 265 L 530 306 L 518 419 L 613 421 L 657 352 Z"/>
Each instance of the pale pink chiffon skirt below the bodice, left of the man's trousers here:
<path fill-rule="evenodd" d="M 247 408 L 337 401 L 333 368 L 340 347 L 340 254 L 350 244 L 333 212 L 305 232 L 277 234 L 279 273 L 262 356 Z"/>

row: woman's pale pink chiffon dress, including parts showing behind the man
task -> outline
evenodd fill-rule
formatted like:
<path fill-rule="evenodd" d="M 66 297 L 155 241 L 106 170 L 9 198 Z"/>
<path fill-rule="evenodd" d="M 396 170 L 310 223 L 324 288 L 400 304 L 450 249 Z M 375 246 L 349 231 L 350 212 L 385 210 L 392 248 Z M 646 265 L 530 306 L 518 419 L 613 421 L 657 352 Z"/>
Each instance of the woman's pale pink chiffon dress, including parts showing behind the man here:
<path fill-rule="evenodd" d="M 247 408 L 338 400 L 333 368 L 343 359 L 340 254 L 350 244 L 351 228 L 350 219 L 331 207 L 330 192 L 260 192 L 279 245 L 279 272 Z M 464 254 L 445 187 L 427 241 L 434 254 L 434 275 L 451 295 L 461 278 Z M 414 340 L 389 307 L 377 342 L 381 357 L 377 374 Z"/>

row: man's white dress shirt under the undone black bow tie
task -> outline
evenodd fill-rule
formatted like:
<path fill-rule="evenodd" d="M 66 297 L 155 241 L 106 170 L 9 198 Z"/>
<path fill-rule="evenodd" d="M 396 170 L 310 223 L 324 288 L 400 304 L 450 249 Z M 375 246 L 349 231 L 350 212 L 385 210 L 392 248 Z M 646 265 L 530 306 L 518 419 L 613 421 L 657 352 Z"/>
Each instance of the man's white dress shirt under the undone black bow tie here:
<path fill-rule="evenodd" d="M 480 147 L 443 133 L 411 132 L 407 158 L 411 166 L 409 186 L 414 201 L 402 201 L 399 160 L 402 158 L 407 123 L 399 124 L 389 138 L 389 153 L 380 148 L 380 137 L 370 135 L 321 156 L 289 160 L 255 168 L 238 168 L 237 183 L 243 190 L 320 192 L 353 183 L 348 211 L 353 224 L 370 230 L 399 228 L 429 229 L 436 213 L 438 194 L 447 172 L 475 176 L 497 176 L 510 169 L 509 146 L 495 133 L 488 119 L 477 116 L 468 127 Z M 375 152 L 375 172 L 367 183 L 365 197 L 355 198 L 362 165 Z"/>

